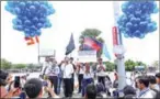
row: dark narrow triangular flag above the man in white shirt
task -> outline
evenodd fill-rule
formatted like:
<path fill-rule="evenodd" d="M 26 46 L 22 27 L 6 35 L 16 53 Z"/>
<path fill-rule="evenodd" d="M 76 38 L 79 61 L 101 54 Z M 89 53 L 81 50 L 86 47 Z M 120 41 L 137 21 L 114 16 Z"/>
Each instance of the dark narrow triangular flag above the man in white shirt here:
<path fill-rule="evenodd" d="M 75 48 L 73 35 L 71 34 L 69 44 L 66 47 L 66 55 L 70 54 Z"/>

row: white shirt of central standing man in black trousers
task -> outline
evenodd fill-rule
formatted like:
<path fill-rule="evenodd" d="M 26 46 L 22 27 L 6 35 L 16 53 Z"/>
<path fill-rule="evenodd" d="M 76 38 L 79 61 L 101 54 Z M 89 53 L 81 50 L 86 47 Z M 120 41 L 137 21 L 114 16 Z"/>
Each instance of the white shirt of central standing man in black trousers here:
<path fill-rule="evenodd" d="M 71 74 L 73 73 L 73 67 L 71 64 L 61 65 L 61 70 L 64 72 L 64 78 L 71 78 Z"/>

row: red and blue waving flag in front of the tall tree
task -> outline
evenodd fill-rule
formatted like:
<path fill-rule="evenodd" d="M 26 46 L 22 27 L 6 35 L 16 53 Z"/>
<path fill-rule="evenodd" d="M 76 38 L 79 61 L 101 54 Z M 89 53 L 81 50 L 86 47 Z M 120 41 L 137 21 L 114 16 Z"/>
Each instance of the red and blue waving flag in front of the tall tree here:
<path fill-rule="evenodd" d="M 92 37 L 84 37 L 83 44 L 90 46 L 91 48 L 95 51 L 100 51 L 102 47 L 102 43 L 100 43 L 98 40 L 92 38 Z"/>

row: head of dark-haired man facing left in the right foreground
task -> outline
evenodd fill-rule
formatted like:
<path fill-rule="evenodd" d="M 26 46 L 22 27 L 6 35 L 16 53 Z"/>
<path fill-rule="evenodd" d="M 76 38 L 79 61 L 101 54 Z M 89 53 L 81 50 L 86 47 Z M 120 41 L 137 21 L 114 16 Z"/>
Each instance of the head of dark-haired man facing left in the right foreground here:
<path fill-rule="evenodd" d="M 137 85 L 138 85 L 138 88 L 140 90 L 149 87 L 149 79 L 148 79 L 148 77 L 147 76 L 139 77 L 138 80 L 137 80 Z"/>

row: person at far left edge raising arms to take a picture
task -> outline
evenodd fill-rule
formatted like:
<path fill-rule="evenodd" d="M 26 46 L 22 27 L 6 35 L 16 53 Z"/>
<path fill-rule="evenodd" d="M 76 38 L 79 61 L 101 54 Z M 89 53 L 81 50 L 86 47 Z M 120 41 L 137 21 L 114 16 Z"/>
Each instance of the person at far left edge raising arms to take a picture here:
<path fill-rule="evenodd" d="M 14 88 L 12 84 L 12 76 L 9 73 L 0 70 L 0 98 L 12 98 L 20 95 L 20 88 Z M 5 86 L 10 86 L 9 90 L 5 89 Z"/>

